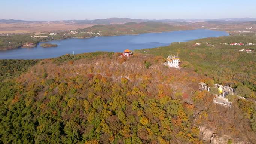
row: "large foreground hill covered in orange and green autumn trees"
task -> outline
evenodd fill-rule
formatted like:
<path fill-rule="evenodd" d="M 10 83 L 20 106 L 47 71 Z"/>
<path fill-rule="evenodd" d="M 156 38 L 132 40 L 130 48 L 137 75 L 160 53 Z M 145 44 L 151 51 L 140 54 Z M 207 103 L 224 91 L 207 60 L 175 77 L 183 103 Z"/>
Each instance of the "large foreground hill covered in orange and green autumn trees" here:
<path fill-rule="evenodd" d="M 210 75 L 191 69 L 196 63 L 175 70 L 164 62 L 107 52 L 39 61 L 0 82 L 0 143 L 207 143 L 199 126 L 228 135 L 227 143 L 256 143 L 252 101 L 234 98 L 230 110 L 213 104 L 197 84 L 213 82 Z"/>

